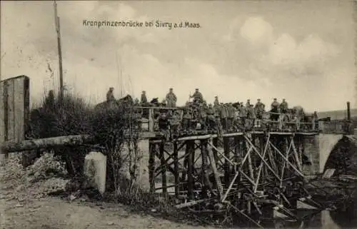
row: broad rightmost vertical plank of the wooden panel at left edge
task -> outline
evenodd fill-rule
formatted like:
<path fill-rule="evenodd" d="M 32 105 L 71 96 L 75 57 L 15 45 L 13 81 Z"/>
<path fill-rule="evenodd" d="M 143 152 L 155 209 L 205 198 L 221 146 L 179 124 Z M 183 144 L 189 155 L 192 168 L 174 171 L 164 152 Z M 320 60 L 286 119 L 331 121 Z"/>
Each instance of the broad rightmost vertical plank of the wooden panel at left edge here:
<path fill-rule="evenodd" d="M 24 77 L 14 79 L 14 141 L 25 138 Z"/>

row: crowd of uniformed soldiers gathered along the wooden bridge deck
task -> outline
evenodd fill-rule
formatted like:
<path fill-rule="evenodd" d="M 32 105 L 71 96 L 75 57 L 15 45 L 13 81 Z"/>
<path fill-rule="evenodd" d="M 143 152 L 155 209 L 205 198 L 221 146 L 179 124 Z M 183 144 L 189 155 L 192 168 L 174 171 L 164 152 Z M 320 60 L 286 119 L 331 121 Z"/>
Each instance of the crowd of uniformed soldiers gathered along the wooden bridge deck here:
<path fill-rule="evenodd" d="M 110 88 L 107 93 L 107 101 L 114 99 L 114 88 Z M 139 107 L 159 106 L 175 109 L 155 109 L 153 118 L 156 121 L 157 127 L 164 133 L 176 133 L 178 131 L 193 131 L 193 130 L 207 130 L 207 131 L 242 131 L 247 128 L 261 127 L 261 120 L 268 119 L 271 121 L 278 121 L 281 114 L 288 115 L 291 109 L 288 108 L 288 103 L 285 98 L 278 102 L 277 98 L 273 98 L 271 109 L 266 116 L 266 105 L 258 98 L 256 104 L 252 104 L 250 99 L 237 103 L 220 103 L 218 96 L 212 103 L 206 103 L 202 93 L 196 88 L 192 101 L 186 102 L 185 106 L 177 107 L 177 96 L 173 88 L 169 89 L 166 94 L 166 99 L 159 103 L 155 98 L 148 101 L 146 92 L 141 93 L 141 99 L 136 99 L 134 102 L 135 113 L 138 114 L 138 119 L 149 118 L 148 113 L 144 113 L 144 109 Z M 170 135 L 171 135 L 170 134 Z"/>

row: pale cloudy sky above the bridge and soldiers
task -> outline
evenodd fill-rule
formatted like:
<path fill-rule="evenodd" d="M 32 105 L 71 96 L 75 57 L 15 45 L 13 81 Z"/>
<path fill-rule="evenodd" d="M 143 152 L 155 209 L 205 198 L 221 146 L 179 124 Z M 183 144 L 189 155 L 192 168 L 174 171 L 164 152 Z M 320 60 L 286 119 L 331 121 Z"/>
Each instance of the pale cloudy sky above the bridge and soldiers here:
<path fill-rule="evenodd" d="M 356 101 L 353 1 L 58 1 L 66 90 L 91 103 L 114 87 L 178 105 L 199 88 L 208 103 L 308 111 Z M 188 21 L 199 28 L 85 26 L 83 21 Z M 31 103 L 59 88 L 53 1 L 1 1 L 1 80 L 26 75 Z"/>

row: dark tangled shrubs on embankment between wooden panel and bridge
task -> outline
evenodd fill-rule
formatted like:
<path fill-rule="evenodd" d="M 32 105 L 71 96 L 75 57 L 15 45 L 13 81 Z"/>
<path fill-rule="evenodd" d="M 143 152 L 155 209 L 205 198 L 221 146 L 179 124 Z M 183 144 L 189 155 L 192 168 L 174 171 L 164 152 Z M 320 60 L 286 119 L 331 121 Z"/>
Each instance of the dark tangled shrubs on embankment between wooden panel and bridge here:
<path fill-rule="evenodd" d="M 133 180 L 139 160 L 136 136 L 124 138 L 124 132 L 132 126 L 131 109 L 123 106 L 116 108 L 94 109 L 83 99 L 66 94 L 61 101 L 49 93 L 44 102 L 32 109 L 27 138 L 50 138 L 88 134 L 95 139 L 96 146 L 76 146 L 54 148 L 54 152 L 66 163 L 71 177 L 83 176 L 84 158 L 90 151 L 100 149 L 107 156 L 107 188 L 118 190 L 119 172 L 124 166 L 129 168 Z M 39 156 L 39 155 L 38 155 Z"/>

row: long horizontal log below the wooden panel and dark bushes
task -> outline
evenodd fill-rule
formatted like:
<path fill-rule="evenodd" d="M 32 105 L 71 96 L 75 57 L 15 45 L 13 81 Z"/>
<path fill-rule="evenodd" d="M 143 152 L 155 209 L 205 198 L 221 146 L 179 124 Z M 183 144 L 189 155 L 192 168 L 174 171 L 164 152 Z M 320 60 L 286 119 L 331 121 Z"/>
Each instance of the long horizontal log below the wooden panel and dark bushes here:
<path fill-rule="evenodd" d="M 94 138 L 89 135 L 59 136 L 54 138 L 40 138 L 21 142 L 5 142 L 0 145 L 0 154 L 31 151 L 38 148 L 54 146 L 79 146 L 84 143 L 93 143 Z"/>

